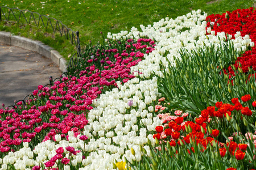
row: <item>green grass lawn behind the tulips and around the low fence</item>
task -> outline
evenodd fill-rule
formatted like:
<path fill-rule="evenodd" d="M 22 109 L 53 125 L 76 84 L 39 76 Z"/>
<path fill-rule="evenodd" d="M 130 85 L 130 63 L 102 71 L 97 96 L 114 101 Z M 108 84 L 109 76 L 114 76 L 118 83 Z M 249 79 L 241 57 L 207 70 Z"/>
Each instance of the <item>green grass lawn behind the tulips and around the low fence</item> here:
<path fill-rule="evenodd" d="M 35 11 L 60 20 L 73 31 L 80 32 L 83 48 L 90 40 L 92 44 L 102 41 L 101 31 L 106 36 L 108 32 L 129 31 L 131 27 L 139 28 L 140 24 L 152 24 L 167 16 L 176 18 L 199 8 L 208 14 L 220 14 L 237 8 L 251 7 L 254 2 L 254 0 L 0 0 L 0 5 Z M 31 28 L 30 25 L 26 27 L 16 24 L 9 25 L 11 27 L 7 27 L 2 22 L 0 30 L 11 31 L 15 35 L 43 41 L 58 50 L 67 59 L 69 54 L 76 51 L 74 46 L 69 45 L 69 42 L 53 36 L 51 32 L 46 34 L 43 28 Z M 56 38 L 56 40 L 52 38 Z"/>

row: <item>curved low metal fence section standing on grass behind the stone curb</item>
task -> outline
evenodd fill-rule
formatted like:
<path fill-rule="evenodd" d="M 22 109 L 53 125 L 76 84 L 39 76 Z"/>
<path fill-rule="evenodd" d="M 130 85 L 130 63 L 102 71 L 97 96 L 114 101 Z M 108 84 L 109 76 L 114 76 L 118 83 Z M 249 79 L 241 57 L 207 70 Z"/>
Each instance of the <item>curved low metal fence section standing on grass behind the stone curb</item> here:
<path fill-rule="evenodd" d="M 76 45 L 77 53 L 81 56 L 79 31 L 74 32 L 60 20 L 49 18 L 46 15 L 40 15 L 38 12 L 29 10 L 20 10 L 19 8 L 9 8 L 0 6 L 0 22 L 23 23 L 31 24 L 36 27 L 43 26 L 44 28 L 52 29 L 53 33 L 60 33 L 60 36 L 71 41 L 71 44 Z"/>

